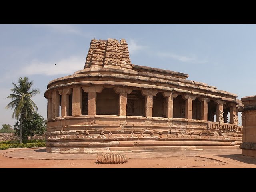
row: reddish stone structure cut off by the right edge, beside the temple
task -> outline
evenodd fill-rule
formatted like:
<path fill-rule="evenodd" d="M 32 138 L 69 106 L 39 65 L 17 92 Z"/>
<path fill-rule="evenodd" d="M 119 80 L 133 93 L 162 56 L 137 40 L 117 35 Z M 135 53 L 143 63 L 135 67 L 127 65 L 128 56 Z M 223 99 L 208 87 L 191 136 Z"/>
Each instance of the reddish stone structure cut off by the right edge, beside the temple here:
<path fill-rule="evenodd" d="M 240 144 L 242 154 L 256 157 L 256 95 L 241 99 L 244 102 L 242 112 L 243 142 Z"/>

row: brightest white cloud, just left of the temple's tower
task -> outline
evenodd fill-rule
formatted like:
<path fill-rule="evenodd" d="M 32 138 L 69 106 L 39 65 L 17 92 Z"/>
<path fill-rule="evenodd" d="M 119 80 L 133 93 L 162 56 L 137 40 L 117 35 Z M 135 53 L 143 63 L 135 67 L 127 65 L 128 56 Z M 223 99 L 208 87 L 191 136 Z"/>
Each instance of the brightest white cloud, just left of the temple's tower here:
<path fill-rule="evenodd" d="M 58 74 L 72 74 L 84 68 L 86 58 L 82 56 L 71 56 L 66 59 L 41 62 L 39 60 L 32 60 L 30 64 L 22 68 L 21 73 L 24 75 L 44 74 L 44 75 L 58 75 Z"/>

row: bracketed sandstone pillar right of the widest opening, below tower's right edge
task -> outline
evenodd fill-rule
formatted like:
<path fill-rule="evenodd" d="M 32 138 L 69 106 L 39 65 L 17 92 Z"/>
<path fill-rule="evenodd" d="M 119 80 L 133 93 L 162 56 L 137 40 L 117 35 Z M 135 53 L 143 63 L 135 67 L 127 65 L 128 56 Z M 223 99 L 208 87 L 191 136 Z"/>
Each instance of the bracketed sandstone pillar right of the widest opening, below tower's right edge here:
<path fill-rule="evenodd" d="M 126 116 L 127 94 L 130 94 L 132 89 L 115 87 L 114 91 L 119 94 L 119 116 Z"/>

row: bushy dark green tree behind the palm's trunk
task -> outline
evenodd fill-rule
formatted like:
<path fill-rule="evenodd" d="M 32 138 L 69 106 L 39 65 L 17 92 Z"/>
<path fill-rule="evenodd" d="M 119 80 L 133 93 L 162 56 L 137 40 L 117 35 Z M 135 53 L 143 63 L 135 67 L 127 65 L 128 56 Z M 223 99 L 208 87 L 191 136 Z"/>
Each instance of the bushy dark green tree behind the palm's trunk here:
<path fill-rule="evenodd" d="M 20 136 L 20 120 L 14 124 L 14 130 L 16 130 L 16 135 Z M 27 140 L 28 136 L 32 137 L 37 135 L 42 135 L 46 132 L 46 120 L 38 112 L 33 112 L 30 119 L 25 119 L 22 122 L 22 140 Z"/>

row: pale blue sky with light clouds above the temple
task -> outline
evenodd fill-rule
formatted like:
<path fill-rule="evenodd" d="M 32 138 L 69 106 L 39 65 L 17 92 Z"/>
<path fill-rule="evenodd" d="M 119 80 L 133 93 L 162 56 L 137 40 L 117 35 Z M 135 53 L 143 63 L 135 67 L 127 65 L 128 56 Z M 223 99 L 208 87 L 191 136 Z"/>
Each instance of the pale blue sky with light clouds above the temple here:
<path fill-rule="evenodd" d="M 0 24 L 0 125 L 13 125 L 12 82 L 28 76 L 46 118 L 43 94 L 50 80 L 84 68 L 91 39 L 126 39 L 132 64 L 189 75 L 236 93 L 254 95 L 255 24 Z M 2 126 L 1 126 L 2 127 Z"/>

